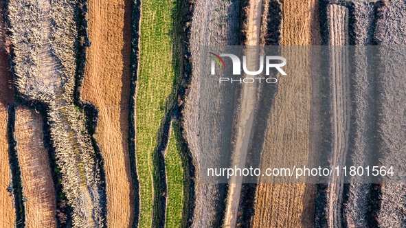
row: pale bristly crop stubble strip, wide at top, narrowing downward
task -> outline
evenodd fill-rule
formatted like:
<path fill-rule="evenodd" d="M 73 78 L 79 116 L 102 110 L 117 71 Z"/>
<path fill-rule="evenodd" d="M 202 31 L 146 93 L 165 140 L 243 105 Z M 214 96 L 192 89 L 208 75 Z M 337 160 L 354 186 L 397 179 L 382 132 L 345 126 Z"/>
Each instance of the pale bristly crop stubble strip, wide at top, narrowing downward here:
<path fill-rule="evenodd" d="M 15 86 L 46 106 L 63 194 L 74 227 L 103 226 L 104 192 L 84 113 L 74 105 L 78 1 L 9 1 Z"/>

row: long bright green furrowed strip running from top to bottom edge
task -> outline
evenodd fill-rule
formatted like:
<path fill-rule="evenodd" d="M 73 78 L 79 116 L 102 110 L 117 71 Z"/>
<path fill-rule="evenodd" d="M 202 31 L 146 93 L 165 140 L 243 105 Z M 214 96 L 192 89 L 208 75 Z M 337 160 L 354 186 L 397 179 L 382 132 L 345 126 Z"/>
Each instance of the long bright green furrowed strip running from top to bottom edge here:
<path fill-rule="evenodd" d="M 181 82 L 183 0 L 142 1 L 139 75 L 135 98 L 139 227 L 161 225 L 166 215 L 161 141 Z M 167 134 L 167 133 L 166 133 Z M 177 139 L 177 138 L 175 138 Z"/>

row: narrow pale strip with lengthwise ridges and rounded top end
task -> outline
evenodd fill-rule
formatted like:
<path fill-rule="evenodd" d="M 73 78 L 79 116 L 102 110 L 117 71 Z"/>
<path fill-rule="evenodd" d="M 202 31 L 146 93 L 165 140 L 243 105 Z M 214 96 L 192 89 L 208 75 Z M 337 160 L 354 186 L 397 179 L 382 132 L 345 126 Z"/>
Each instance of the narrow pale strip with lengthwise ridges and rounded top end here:
<path fill-rule="evenodd" d="M 329 5 L 330 44 L 348 45 L 348 9 L 341 5 Z M 349 82 L 346 65 L 348 53 L 345 49 L 332 49 L 330 61 L 330 124 L 332 126 L 332 154 L 330 162 L 335 166 L 345 166 L 348 151 L 348 133 L 350 128 Z M 341 227 L 341 205 L 343 203 L 343 183 L 332 178 L 328 185 L 328 227 Z"/>

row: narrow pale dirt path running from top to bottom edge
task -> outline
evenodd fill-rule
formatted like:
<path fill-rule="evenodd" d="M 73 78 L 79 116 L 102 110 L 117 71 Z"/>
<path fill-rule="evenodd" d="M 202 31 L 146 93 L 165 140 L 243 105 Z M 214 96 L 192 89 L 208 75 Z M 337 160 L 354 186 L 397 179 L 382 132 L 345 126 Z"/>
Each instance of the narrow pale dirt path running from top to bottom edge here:
<path fill-rule="evenodd" d="M 260 42 L 260 25 L 262 13 L 262 0 L 251 0 L 249 2 L 249 15 L 248 15 L 248 32 L 247 32 L 247 45 L 256 46 Z M 258 66 L 259 49 L 256 47 L 248 47 L 247 50 L 247 66 Z M 256 71 L 256 69 L 249 69 Z M 247 77 L 247 76 L 245 76 Z M 238 133 L 236 137 L 236 151 L 234 155 L 233 165 L 238 167 L 245 167 L 247 159 L 249 139 L 251 135 L 251 128 L 253 126 L 253 111 L 255 110 L 256 103 L 256 90 L 257 84 L 244 84 L 241 94 L 241 112 L 238 117 Z M 232 178 L 229 185 L 229 192 L 227 198 L 227 208 L 225 212 L 225 227 L 236 227 L 238 206 L 240 205 L 241 189 L 243 185 L 238 183 L 242 181 L 242 177 Z"/>

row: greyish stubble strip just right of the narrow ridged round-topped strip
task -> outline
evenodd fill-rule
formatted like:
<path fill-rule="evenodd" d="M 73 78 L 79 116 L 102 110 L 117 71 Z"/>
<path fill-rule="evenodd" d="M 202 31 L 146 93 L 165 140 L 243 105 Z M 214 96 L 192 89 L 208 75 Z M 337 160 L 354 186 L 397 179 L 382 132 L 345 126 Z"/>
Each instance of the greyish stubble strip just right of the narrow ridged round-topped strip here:
<path fill-rule="evenodd" d="M 372 31 L 374 20 L 373 3 L 354 3 L 353 32 L 354 45 L 370 45 L 372 43 Z M 374 128 L 370 126 L 374 122 L 374 76 L 368 72 L 368 65 L 364 56 L 365 49 L 357 49 L 354 56 L 356 67 L 355 73 L 350 75 L 352 110 L 350 150 L 348 151 L 350 162 L 354 166 L 368 166 L 371 161 L 370 151 L 374 145 Z M 348 227 L 367 227 L 370 216 L 371 198 L 370 184 L 348 185 L 347 199 L 343 205 L 343 220 Z"/>

